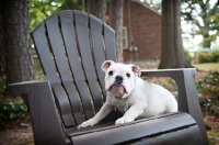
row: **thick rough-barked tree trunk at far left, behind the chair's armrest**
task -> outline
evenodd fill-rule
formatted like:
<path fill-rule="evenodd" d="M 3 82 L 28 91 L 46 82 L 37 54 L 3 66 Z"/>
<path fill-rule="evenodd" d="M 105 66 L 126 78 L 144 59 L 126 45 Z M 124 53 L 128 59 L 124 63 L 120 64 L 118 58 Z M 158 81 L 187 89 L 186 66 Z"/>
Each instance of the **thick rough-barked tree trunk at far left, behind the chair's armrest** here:
<path fill-rule="evenodd" d="M 7 82 L 34 79 L 27 0 L 2 0 L 2 48 L 5 49 Z"/>

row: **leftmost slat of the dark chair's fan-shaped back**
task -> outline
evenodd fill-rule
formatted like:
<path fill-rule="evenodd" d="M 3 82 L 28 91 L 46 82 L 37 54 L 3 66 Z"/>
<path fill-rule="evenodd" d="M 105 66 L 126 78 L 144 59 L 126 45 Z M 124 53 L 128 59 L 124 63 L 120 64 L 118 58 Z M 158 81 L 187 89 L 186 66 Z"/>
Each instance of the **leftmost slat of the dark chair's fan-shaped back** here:
<path fill-rule="evenodd" d="M 36 52 L 42 62 L 46 79 L 49 80 L 53 91 L 58 100 L 64 123 L 66 126 L 74 126 L 76 123 L 71 115 L 69 101 L 66 98 L 65 91 L 61 87 L 60 78 L 57 75 L 53 53 L 49 48 L 50 43 L 48 42 L 46 33 L 45 25 L 42 24 L 35 29 L 35 31 L 32 33 L 32 37 L 36 46 Z"/>

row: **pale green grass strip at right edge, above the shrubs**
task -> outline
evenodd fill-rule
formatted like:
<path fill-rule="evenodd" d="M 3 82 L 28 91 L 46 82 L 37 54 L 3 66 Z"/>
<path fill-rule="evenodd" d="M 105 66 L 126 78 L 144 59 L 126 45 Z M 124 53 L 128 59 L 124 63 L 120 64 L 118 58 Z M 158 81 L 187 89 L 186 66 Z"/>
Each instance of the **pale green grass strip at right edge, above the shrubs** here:
<path fill-rule="evenodd" d="M 192 65 L 200 70 L 218 70 L 219 71 L 219 63 L 204 63 L 204 64 L 192 64 Z"/>

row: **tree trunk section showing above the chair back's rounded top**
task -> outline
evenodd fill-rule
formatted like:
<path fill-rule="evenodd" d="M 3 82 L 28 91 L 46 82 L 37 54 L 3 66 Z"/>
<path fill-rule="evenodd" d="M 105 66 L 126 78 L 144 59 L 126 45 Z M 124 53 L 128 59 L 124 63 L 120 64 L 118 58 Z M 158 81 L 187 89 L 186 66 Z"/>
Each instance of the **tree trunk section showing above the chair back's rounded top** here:
<path fill-rule="evenodd" d="M 88 0 L 88 12 L 105 22 L 106 1 Z"/>

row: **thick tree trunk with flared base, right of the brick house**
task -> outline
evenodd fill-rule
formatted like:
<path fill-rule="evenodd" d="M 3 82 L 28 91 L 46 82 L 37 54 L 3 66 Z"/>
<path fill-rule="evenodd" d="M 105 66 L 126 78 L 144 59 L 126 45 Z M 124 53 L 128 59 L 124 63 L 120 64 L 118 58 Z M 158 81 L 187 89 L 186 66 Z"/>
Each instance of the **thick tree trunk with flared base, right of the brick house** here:
<path fill-rule="evenodd" d="M 181 0 L 162 0 L 162 49 L 159 69 L 192 67 L 182 46 Z"/>

